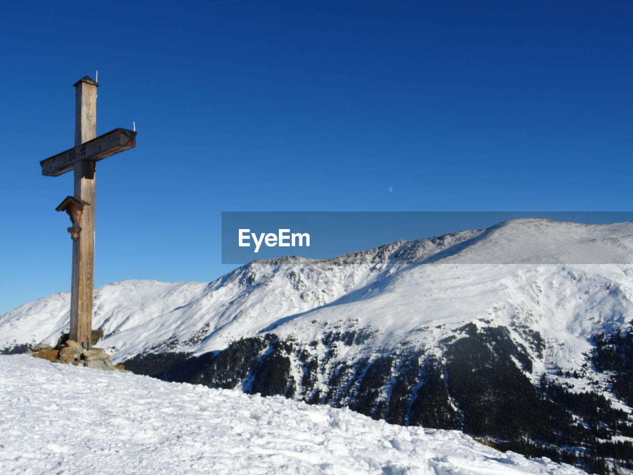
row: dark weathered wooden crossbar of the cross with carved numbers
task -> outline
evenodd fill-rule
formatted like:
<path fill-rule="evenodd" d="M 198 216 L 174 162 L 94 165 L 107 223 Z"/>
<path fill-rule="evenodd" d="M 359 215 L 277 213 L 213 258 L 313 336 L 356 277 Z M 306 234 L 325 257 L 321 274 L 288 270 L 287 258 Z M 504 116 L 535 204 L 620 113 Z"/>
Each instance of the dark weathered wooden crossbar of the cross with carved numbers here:
<path fill-rule="evenodd" d="M 98 162 L 115 153 L 136 146 L 136 132 L 128 129 L 115 129 L 81 145 L 42 160 L 42 175 L 57 177 L 75 168 L 75 162 L 90 160 Z"/>

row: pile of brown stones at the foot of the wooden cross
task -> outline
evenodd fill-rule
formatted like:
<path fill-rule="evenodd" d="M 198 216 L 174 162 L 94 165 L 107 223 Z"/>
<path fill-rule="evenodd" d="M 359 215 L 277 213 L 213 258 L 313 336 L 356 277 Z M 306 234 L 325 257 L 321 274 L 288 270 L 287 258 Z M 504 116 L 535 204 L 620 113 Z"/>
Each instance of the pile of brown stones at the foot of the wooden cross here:
<path fill-rule="evenodd" d="M 126 371 L 123 365 L 113 365 L 110 355 L 103 351 L 103 348 L 92 348 L 84 350 L 82 346 L 72 339 L 60 340 L 60 343 L 53 348 L 51 345 L 35 345 L 30 348 L 30 352 L 35 358 L 43 358 L 53 363 L 65 363 L 75 366 L 85 366 L 103 371 Z"/>

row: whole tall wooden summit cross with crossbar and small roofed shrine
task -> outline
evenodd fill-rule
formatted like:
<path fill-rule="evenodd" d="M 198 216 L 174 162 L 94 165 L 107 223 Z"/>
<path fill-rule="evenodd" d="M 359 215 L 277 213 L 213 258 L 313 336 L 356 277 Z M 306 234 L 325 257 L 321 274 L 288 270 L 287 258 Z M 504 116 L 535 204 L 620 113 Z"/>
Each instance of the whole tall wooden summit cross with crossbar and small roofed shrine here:
<path fill-rule="evenodd" d="M 134 148 L 136 132 L 111 130 L 97 137 L 97 84 L 84 76 L 75 86 L 75 146 L 42 160 L 42 175 L 56 177 L 75 170 L 75 196 L 56 208 L 68 213 L 72 227 L 73 272 L 70 300 L 70 339 L 91 347 L 92 277 L 94 270 L 94 182 L 96 162 Z"/>

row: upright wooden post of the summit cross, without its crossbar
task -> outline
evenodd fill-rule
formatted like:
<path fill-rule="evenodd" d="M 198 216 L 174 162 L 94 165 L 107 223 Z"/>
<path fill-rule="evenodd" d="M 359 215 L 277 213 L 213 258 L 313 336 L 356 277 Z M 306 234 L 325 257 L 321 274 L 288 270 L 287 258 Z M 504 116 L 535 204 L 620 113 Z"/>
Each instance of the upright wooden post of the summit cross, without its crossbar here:
<path fill-rule="evenodd" d="M 97 86 L 84 77 L 75 86 L 75 146 L 97 136 Z M 70 339 L 91 346 L 92 288 L 94 272 L 94 201 L 95 162 L 75 162 L 75 196 L 84 206 L 79 225 L 81 231 L 73 241 L 73 270 L 70 301 Z"/>

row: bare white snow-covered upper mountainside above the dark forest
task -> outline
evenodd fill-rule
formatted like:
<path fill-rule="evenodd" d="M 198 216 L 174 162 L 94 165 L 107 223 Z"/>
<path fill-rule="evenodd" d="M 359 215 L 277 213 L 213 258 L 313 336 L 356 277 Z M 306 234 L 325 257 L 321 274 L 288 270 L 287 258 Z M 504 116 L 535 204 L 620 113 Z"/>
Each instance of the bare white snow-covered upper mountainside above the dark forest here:
<path fill-rule="evenodd" d="M 299 327 L 299 333 L 312 338 L 322 333 L 323 324 L 330 326 L 335 320 L 346 329 L 372 327 L 377 331 L 372 347 L 376 342 L 400 345 L 405 334 L 411 339 L 411 331 L 429 336 L 416 338 L 416 344 L 434 341 L 455 326 L 482 318 L 530 324 L 564 343 L 569 334 L 573 341 L 605 325 L 610 330 L 624 324 L 622 318 L 605 317 L 613 317 L 615 309 L 598 308 L 598 301 L 618 305 L 627 314 L 633 265 L 626 263 L 633 260 L 632 251 L 633 222 L 512 220 L 327 260 L 254 261 L 208 284 L 108 284 L 95 291 L 93 326 L 103 327 L 102 345 L 113 352 L 113 360 L 165 346 L 199 355 L 272 327 L 284 334 L 298 333 Z M 624 264 L 507 265 L 517 261 Z M 615 285 L 613 293 L 610 284 Z M 609 295 L 606 300 L 601 288 Z M 577 292 L 591 297 L 576 302 Z M 614 299 L 613 294 L 621 298 Z M 68 330 L 69 299 L 69 293 L 51 295 L 1 316 L 0 348 L 56 343 Z M 584 317 L 591 308 L 603 315 L 598 320 L 581 319 L 591 325 L 567 322 L 570 312 Z M 318 324 L 312 325 L 315 318 Z M 572 326 L 561 334 L 567 324 Z M 420 331 L 439 325 L 448 330 L 432 335 Z M 561 363 L 568 362 L 563 358 Z"/>

